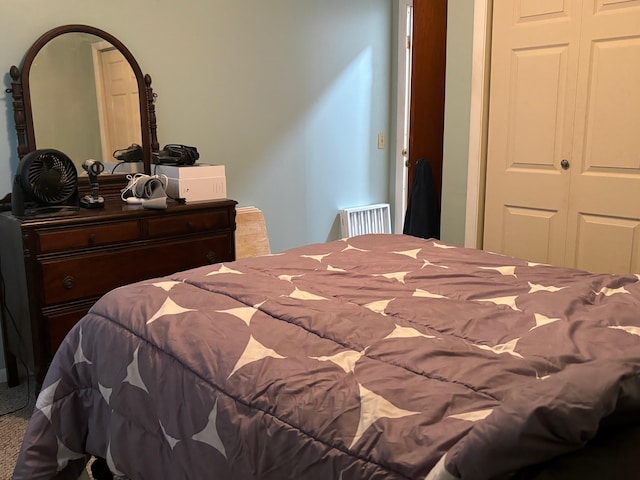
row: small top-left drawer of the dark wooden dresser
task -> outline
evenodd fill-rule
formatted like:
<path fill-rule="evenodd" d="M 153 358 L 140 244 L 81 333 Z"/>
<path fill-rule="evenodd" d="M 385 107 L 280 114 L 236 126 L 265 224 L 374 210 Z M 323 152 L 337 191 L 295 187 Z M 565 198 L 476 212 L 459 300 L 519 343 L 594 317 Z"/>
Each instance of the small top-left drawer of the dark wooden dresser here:
<path fill-rule="evenodd" d="M 140 227 L 137 220 L 130 220 L 75 228 L 36 230 L 35 234 L 40 245 L 40 253 L 52 253 L 134 241 L 140 237 Z"/>

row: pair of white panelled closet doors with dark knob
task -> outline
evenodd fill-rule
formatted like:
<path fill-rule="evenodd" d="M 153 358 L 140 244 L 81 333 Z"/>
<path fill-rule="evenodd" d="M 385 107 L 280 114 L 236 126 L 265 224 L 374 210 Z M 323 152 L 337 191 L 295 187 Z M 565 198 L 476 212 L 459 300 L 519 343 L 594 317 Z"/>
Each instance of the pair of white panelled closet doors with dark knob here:
<path fill-rule="evenodd" d="M 640 271 L 640 2 L 494 2 L 484 248 Z"/>

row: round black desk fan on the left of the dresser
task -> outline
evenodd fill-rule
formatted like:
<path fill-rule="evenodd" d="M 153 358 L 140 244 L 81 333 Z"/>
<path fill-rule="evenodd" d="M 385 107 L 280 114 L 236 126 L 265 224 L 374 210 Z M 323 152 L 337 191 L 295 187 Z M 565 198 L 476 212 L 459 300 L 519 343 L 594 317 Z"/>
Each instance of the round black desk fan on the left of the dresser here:
<path fill-rule="evenodd" d="M 25 155 L 14 179 L 12 213 L 25 215 L 63 211 L 52 206 L 78 205 L 78 173 L 71 159 L 52 148 L 35 150 Z"/>

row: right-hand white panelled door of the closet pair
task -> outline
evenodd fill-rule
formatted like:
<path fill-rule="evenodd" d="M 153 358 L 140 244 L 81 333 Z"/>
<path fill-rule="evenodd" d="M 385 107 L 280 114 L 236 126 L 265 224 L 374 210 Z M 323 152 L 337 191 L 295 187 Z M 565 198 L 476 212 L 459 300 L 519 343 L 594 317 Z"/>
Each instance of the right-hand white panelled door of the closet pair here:
<path fill-rule="evenodd" d="M 640 2 L 585 1 L 566 264 L 640 273 Z"/>

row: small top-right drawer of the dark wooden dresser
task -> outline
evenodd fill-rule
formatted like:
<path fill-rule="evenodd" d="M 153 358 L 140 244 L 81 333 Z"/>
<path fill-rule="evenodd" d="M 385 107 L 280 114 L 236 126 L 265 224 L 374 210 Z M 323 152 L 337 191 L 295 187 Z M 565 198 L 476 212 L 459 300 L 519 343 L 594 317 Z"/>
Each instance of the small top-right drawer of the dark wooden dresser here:
<path fill-rule="evenodd" d="M 167 237 L 187 233 L 207 232 L 229 228 L 229 212 L 226 208 L 209 209 L 207 212 L 186 215 L 166 215 L 147 219 L 150 237 Z"/>

